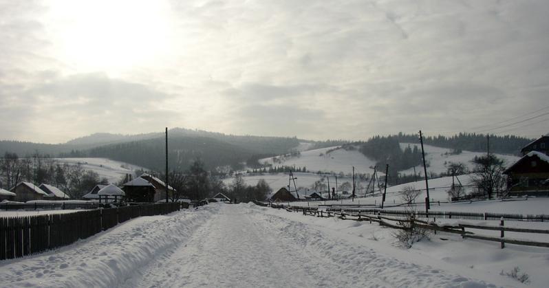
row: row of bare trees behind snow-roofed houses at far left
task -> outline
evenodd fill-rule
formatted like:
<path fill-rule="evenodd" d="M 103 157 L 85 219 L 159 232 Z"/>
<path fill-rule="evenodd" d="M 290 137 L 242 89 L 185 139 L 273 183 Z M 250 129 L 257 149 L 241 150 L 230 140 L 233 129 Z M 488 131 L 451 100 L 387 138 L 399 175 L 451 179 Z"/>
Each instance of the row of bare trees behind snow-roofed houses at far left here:
<path fill-rule="evenodd" d="M 79 163 L 61 164 L 50 155 L 39 153 L 19 157 L 6 152 L 0 159 L 0 186 L 9 190 L 20 181 L 51 184 L 74 199 L 82 197 L 97 184 L 108 183 L 106 178 L 100 179 L 98 173 L 84 169 Z"/>

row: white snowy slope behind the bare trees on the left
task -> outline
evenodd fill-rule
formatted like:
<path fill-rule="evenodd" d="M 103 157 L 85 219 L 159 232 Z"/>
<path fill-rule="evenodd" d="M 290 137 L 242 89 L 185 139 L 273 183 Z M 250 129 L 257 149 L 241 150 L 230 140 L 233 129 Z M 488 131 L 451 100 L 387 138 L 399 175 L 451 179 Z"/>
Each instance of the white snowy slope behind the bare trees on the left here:
<path fill-rule="evenodd" d="M 94 170 L 99 174 L 100 178 L 109 179 L 109 183 L 116 183 L 126 174 L 131 174 L 135 177 L 135 170 L 147 170 L 140 166 L 118 162 L 107 158 L 56 158 L 60 163 L 70 165 L 82 164 L 85 170 Z M 137 175 L 139 176 L 139 175 Z"/>

